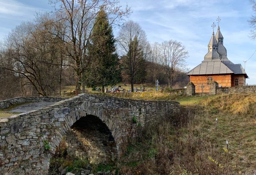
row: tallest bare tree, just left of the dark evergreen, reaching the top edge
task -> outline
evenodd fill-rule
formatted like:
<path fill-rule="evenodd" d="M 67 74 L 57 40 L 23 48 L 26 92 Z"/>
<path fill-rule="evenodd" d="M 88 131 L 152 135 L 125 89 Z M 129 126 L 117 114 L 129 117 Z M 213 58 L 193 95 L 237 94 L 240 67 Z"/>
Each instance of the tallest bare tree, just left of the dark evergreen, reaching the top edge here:
<path fill-rule="evenodd" d="M 80 92 L 81 83 L 86 81 L 87 69 L 90 69 L 88 47 L 97 13 L 103 8 L 109 17 L 110 25 L 115 24 L 123 16 L 130 13 L 129 8 L 121 9 L 117 0 L 50 0 L 55 3 L 58 20 L 64 20 L 68 26 L 66 31 L 65 49 L 71 58 L 72 67 L 76 72 L 76 95 Z M 85 80 L 82 80 L 85 77 Z"/>

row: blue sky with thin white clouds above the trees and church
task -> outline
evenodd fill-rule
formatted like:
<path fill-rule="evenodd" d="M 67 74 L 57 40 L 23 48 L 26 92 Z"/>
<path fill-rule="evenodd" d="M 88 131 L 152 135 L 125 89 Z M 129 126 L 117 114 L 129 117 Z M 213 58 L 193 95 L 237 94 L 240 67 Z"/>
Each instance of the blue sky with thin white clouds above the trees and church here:
<path fill-rule="evenodd" d="M 126 20 L 139 23 L 149 42 L 182 42 L 189 52 L 189 69 L 204 59 L 218 16 L 229 60 L 244 67 L 243 61 L 256 50 L 256 40 L 249 37 L 248 20 L 253 14 L 249 0 L 120 0 L 120 5 L 131 7 L 133 13 Z M 0 40 L 36 13 L 53 9 L 48 0 L 0 0 Z M 115 35 L 118 30 L 114 29 Z M 256 85 L 256 53 L 246 62 L 246 73 L 248 85 Z"/>

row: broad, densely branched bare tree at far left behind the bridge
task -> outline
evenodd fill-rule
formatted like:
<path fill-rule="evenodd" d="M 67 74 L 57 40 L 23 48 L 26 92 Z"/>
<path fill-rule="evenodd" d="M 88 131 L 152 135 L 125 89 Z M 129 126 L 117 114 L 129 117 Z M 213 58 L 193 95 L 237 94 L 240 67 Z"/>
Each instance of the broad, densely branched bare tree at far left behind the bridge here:
<path fill-rule="evenodd" d="M 4 51 L 3 61 L 12 66 L 2 67 L 26 79 L 38 94 L 47 96 L 56 92 L 59 84 L 61 40 L 48 32 L 51 20 L 37 18 L 23 23 L 10 32 Z"/>

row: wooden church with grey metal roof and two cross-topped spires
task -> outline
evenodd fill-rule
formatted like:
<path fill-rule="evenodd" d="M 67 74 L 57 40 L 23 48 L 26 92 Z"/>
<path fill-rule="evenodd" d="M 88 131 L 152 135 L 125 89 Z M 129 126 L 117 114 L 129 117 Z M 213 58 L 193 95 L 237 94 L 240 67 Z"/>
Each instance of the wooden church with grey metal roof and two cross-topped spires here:
<path fill-rule="evenodd" d="M 218 22 L 220 18 L 218 18 Z M 212 24 L 214 29 L 215 24 Z M 190 82 L 195 85 L 196 93 L 209 92 L 209 85 L 212 81 L 218 82 L 219 86 L 245 86 L 246 78 L 248 78 L 241 64 L 234 64 L 227 57 L 227 50 L 223 45 L 223 35 L 218 30 L 208 44 L 208 53 L 200 65 L 190 70 L 187 74 Z"/>

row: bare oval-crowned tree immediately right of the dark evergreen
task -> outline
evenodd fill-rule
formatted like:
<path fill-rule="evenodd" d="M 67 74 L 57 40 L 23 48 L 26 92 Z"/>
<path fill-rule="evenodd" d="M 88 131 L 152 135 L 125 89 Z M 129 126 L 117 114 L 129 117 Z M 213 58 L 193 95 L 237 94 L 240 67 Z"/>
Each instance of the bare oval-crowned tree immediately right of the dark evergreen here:
<path fill-rule="evenodd" d="M 118 49 L 124 73 L 130 77 L 131 91 L 133 92 L 134 79 L 143 69 L 148 52 L 146 33 L 138 23 L 128 21 L 124 24 L 118 35 Z"/>

